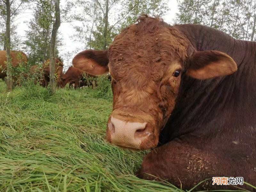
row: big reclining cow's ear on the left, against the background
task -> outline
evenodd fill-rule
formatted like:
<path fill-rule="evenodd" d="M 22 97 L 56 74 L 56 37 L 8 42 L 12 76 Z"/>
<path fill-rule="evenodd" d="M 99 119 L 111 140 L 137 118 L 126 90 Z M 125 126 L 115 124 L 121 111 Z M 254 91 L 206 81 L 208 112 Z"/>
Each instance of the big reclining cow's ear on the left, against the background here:
<path fill-rule="evenodd" d="M 82 51 L 74 57 L 72 65 L 91 75 L 105 74 L 108 72 L 108 51 Z"/>

